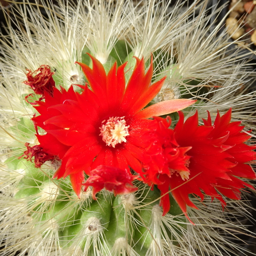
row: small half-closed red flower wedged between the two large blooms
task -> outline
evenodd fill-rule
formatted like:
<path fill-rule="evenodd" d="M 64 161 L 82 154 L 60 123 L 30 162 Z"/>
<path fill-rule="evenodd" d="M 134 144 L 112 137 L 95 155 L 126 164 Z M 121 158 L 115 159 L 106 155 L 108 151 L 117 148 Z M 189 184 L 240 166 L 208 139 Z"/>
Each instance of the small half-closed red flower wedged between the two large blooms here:
<path fill-rule="evenodd" d="M 172 120 L 169 116 L 166 119 L 154 117 L 154 125 L 152 125 L 152 130 L 149 132 L 151 143 L 147 148 L 147 154 L 150 158 L 145 158 L 150 162 L 143 165 L 149 186 L 152 183 L 162 183 L 158 179 L 159 174 L 166 174 L 169 177 L 172 174 L 180 175 L 183 180 L 189 177 L 190 172 L 187 166 L 190 156 L 186 155 L 186 152 L 191 147 L 180 147 L 178 145 L 174 131 L 168 129 L 171 122 Z"/>

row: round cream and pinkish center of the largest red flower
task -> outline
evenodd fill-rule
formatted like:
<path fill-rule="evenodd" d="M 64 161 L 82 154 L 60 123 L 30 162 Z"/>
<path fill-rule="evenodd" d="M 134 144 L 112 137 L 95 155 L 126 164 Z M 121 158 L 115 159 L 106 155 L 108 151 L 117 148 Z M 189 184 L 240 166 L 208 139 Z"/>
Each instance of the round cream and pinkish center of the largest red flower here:
<path fill-rule="evenodd" d="M 99 127 L 99 136 L 102 136 L 102 140 L 106 145 L 114 148 L 117 143 L 126 142 L 125 137 L 129 135 L 128 128 L 130 125 L 126 125 L 124 118 L 124 116 L 112 116 L 107 121 L 102 121 L 102 126 Z"/>

